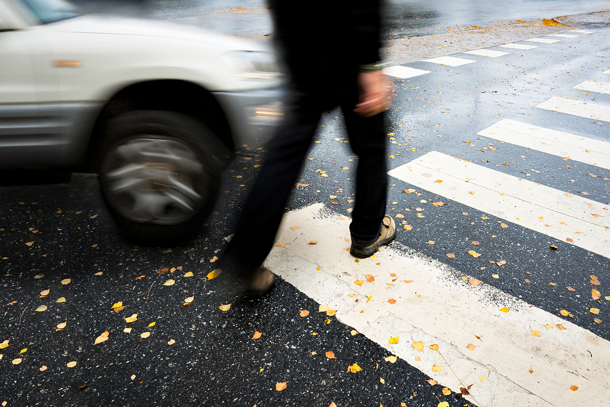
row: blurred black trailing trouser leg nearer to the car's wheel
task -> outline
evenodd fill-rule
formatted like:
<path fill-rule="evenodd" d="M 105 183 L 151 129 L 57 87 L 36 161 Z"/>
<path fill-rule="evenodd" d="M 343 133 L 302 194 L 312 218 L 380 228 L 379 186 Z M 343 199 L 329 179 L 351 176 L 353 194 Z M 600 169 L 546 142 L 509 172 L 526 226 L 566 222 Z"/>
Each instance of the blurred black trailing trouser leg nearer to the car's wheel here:
<path fill-rule="evenodd" d="M 319 120 L 319 110 L 297 101 L 268 143 L 237 231 L 221 255 L 223 271 L 247 278 L 269 254 Z"/>

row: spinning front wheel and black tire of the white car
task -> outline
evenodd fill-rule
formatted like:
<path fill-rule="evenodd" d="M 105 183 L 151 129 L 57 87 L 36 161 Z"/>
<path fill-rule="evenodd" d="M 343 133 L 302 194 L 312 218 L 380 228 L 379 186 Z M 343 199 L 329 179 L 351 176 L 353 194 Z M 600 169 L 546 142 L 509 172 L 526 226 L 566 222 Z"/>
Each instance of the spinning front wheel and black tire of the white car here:
<path fill-rule="evenodd" d="M 177 243 L 212 211 L 226 148 L 200 121 L 135 110 L 107 121 L 100 147 L 102 197 L 127 236 Z"/>

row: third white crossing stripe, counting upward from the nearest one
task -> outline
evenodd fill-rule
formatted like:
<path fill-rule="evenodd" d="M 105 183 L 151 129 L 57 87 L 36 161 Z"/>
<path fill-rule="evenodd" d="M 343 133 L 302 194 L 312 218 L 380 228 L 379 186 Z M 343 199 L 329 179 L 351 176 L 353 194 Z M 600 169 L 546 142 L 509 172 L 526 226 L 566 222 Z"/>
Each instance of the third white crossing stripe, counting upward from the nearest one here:
<path fill-rule="evenodd" d="M 610 143 L 601 140 L 507 119 L 500 120 L 477 134 L 610 169 Z"/>

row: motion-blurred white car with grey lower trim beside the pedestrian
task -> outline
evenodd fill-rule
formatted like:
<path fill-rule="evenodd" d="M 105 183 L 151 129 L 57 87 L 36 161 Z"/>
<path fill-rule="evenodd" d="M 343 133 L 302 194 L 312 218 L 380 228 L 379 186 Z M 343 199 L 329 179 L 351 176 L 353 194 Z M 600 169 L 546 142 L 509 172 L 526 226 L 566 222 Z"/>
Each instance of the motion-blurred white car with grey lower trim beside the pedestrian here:
<path fill-rule="evenodd" d="M 233 146 L 282 117 L 273 54 L 151 20 L 0 0 L 0 169 L 87 168 L 127 234 L 188 236 Z"/>

